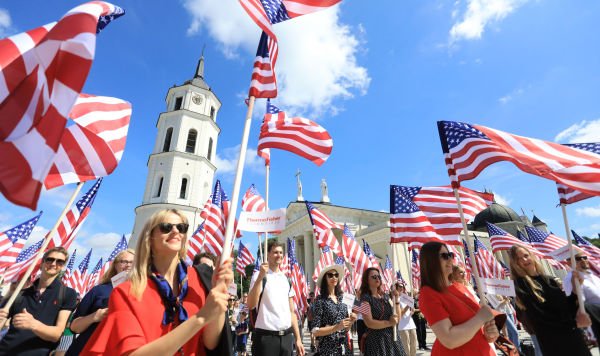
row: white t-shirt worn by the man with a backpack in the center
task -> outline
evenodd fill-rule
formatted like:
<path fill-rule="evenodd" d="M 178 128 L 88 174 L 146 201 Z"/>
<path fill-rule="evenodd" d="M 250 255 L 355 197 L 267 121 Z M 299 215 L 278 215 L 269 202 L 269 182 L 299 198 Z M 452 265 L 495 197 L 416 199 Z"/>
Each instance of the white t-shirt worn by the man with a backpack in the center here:
<path fill-rule="evenodd" d="M 252 277 L 250 289 L 254 286 L 257 278 L 258 273 Z M 296 295 L 294 288 L 290 288 L 287 277 L 281 271 L 274 273 L 269 269 L 266 278 L 267 283 L 254 327 L 271 331 L 287 330 L 292 326 L 290 298 Z"/>

